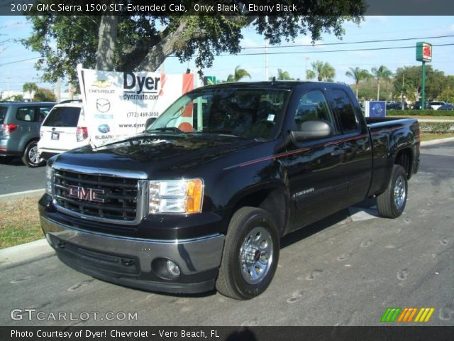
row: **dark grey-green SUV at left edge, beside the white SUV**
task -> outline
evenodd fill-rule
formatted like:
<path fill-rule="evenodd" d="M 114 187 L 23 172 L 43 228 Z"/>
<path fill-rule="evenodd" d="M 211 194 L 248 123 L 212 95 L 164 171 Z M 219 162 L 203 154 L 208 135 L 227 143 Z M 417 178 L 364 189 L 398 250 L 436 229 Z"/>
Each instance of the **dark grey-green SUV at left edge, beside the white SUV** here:
<path fill-rule="evenodd" d="M 0 102 L 0 157 L 10 161 L 19 156 L 28 167 L 43 166 L 38 155 L 40 124 L 53 102 Z"/>

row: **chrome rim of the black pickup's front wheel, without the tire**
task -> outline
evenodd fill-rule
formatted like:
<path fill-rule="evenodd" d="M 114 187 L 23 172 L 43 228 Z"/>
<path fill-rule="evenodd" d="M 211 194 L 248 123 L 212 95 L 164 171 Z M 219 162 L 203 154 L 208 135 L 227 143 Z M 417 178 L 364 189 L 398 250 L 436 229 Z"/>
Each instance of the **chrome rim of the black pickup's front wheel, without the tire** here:
<path fill-rule="evenodd" d="M 240 269 L 249 284 L 262 281 L 272 264 L 272 237 L 265 227 L 255 227 L 245 238 L 240 249 Z"/>

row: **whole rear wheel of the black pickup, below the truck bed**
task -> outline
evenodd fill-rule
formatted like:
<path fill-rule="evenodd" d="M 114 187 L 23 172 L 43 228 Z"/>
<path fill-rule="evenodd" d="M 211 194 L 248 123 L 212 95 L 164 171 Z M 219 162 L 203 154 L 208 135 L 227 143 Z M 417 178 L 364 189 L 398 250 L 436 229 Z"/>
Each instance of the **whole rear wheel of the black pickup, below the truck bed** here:
<path fill-rule="evenodd" d="M 408 192 L 406 172 L 400 165 L 392 168 L 388 188 L 377 197 L 378 212 L 385 218 L 397 218 L 402 215 Z"/>

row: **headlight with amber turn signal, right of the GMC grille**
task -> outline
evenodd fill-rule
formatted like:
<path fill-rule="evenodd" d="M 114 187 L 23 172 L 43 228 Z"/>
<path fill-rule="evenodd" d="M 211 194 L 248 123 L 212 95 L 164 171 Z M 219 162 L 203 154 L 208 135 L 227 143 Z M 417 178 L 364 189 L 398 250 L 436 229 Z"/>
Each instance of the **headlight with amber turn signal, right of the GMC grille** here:
<path fill-rule="evenodd" d="M 148 213 L 200 213 L 204 197 L 202 179 L 149 181 Z"/>

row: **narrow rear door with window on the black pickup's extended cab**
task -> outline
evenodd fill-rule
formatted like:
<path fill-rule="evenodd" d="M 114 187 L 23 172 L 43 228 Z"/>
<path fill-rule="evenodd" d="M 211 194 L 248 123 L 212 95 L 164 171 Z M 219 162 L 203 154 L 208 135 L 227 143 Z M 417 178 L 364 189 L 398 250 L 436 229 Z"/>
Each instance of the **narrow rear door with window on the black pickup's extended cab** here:
<path fill-rule="evenodd" d="M 365 118 L 353 92 L 333 86 L 328 94 L 341 130 L 339 148 L 345 152 L 337 174 L 343 183 L 348 183 L 341 207 L 344 208 L 367 195 L 372 178 L 372 147 Z"/>

